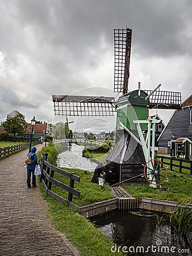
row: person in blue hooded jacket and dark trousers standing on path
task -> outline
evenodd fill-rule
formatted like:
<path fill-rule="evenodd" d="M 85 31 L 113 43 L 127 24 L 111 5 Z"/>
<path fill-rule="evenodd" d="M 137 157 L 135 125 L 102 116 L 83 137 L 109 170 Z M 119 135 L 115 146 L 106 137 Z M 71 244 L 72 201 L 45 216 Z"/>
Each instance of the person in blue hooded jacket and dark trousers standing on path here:
<path fill-rule="evenodd" d="M 27 154 L 27 156 L 31 157 L 32 163 L 27 164 L 27 188 L 31 188 L 31 174 L 32 174 L 32 188 L 35 188 L 36 185 L 36 176 L 35 176 L 35 166 L 37 165 L 37 155 L 36 147 L 32 147 L 31 151 Z"/>

